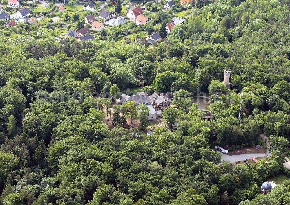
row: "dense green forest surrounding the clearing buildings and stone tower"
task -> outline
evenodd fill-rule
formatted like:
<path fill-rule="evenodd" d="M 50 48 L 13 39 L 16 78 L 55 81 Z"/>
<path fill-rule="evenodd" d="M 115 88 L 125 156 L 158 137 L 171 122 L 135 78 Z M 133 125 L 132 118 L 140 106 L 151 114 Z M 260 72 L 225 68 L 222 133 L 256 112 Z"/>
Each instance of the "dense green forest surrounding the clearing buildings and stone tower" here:
<path fill-rule="evenodd" d="M 260 194 L 265 180 L 290 175 L 283 166 L 290 154 L 289 6 L 197 0 L 185 23 L 153 45 L 117 41 L 113 30 L 82 42 L 0 36 L 0 204 L 290 204 L 290 181 Z M 231 89 L 222 83 L 226 69 Z M 178 109 L 168 115 L 178 119 L 177 130 L 146 136 L 119 126 L 122 119 L 111 130 L 103 122 L 110 102 L 93 95 L 130 94 L 140 77 L 144 92 L 175 93 Z M 210 96 L 210 121 L 191 103 L 200 92 Z M 120 107 L 113 108 L 117 116 Z M 264 146 L 262 133 L 271 143 L 268 163 L 221 162 L 212 150 Z"/>

